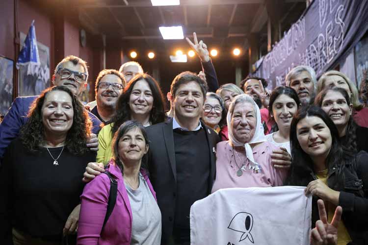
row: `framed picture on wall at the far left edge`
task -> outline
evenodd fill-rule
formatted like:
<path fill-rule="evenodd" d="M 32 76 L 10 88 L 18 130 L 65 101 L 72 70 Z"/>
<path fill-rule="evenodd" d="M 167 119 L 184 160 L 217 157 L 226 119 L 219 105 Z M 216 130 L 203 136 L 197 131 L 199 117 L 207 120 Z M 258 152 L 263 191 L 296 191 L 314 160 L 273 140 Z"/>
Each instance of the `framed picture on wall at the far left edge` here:
<path fill-rule="evenodd" d="M 14 61 L 0 56 L 0 115 L 4 116 L 13 101 Z"/>

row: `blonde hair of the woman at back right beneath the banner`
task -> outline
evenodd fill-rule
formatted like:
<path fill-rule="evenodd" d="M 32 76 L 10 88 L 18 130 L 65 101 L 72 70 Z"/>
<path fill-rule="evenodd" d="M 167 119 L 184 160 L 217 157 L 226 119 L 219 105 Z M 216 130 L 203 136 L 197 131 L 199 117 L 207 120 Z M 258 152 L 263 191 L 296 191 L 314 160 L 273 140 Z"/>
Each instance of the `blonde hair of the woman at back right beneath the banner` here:
<path fill-rule="evenodd" d="M 341 76 L 345 80 L 350 89 L 351 93 L 350 101 L 353 104 L 354 109 L 358 111 L 362 109 L 363 105 L 359 101 L 358 89 L 355 86 L 355 84 L 344 73 L 334 70 L 323 73 L 323 75 L 319 78 L 317 82 L 317 93 L 321 92 L 324 89 L 327 77 L 332 75 Z"/>

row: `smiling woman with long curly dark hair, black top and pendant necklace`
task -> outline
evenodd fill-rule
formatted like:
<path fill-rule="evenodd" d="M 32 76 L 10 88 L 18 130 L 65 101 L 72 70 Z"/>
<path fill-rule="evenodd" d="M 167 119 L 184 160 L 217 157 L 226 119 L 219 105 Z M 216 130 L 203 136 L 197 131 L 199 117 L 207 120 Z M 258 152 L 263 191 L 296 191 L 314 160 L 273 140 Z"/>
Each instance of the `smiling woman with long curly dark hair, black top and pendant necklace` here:
<path fill-rule="evenodd" d="M 96 157 L 86 147 L 91 122 L 61 86 L 44 90 L 28 117 L 2 160 L 0 244 L 58 245 L 77 228 L 68 217 L 78 219 L 83 172 Z"/>

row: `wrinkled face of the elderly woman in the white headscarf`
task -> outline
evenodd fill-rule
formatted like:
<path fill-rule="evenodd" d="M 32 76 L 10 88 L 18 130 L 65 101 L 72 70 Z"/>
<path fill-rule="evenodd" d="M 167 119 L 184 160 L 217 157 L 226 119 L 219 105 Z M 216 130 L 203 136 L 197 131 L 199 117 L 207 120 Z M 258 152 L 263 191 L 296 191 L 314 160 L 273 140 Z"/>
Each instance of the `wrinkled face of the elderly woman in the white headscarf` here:
<path fill-rule="evenodd" d="M 249 142 L 257 126 L 257 117 L 253 104 L 249 102 L 237 103 L 231 117 L 232 133 L 241 143 Z"/>

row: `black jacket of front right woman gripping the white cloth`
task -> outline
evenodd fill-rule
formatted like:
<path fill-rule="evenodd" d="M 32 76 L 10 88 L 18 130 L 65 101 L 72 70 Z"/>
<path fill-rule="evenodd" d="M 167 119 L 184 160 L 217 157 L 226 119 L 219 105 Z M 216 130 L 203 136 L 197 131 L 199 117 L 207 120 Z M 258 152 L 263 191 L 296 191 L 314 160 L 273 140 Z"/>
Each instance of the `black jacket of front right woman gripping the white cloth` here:
<path fill-rule="evenodd" d="M 368 245 L 368 153 L 360 151 L 345 164 L 345 185 L 340 192 L 342 221 L 353 240 L 351 245 Z M 327 183 L 333 183 L 338 167 L 328 173 Z M 316 179 L 311 173 L 311 181 Z M 329 185 L 330 186 L 330 185 Z M 312 226 L 319 220 L 317 197 L 312 201 Z"/>

